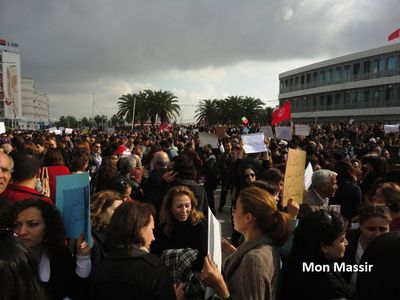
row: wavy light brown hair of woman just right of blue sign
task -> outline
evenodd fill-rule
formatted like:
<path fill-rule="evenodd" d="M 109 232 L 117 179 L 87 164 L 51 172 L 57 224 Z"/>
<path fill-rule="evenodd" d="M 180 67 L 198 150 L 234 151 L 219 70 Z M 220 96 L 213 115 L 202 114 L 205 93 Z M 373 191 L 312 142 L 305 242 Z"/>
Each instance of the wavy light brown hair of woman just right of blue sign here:
<path fill-rule="evenodd" d="M 102 215 L 107 208 L 114 204 L 114 201 L 120 200 L 121 196 L 111 190 L 105 190 L 93 195 L 90 204 L 90 222 L 92 228 L 96 230 L 103 230 L 108 224 L 105 224 Z"/>

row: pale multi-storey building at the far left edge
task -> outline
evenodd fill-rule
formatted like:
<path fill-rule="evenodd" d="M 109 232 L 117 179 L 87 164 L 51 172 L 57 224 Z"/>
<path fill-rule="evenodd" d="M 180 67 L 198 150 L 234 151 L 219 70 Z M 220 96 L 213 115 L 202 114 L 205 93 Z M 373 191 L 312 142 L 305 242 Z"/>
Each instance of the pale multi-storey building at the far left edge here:
<path fill-rule="evenodd" d="M 42 128 L 50 121 L 47 94 L 35 88 L 33 79 L 21 78 L 18 44 L 1 38 L 0 121 L 21 129 Z"/>

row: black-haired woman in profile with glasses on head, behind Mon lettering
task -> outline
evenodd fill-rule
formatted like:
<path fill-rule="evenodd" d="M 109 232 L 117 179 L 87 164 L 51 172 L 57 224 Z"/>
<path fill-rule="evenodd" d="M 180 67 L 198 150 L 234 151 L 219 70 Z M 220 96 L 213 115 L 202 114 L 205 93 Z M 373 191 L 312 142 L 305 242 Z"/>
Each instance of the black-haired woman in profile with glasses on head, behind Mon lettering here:
<path fill-rule="evenodd" d="M 347 221 L 319 210 L 300 219 L 284 267 L 282 299 L 351 299 L 353 291 L 340 275 L 337 261 L 348 245 Z"/>

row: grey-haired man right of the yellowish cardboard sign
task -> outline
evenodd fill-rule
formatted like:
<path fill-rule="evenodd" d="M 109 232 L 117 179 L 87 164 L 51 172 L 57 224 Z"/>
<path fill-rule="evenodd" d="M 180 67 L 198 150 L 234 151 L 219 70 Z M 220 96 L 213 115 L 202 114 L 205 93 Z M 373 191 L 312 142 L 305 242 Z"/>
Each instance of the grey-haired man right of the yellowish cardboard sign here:
<path fill-rule="evenodd" d="M 300 207 L 299 217 L 325 209 L 329 210 L 329 198 L 332 198 L 337 190 L 337 173 L 321 169 L 315 171 L 311 177 L 311 189 L 304 193 L 303 204 Z"/>

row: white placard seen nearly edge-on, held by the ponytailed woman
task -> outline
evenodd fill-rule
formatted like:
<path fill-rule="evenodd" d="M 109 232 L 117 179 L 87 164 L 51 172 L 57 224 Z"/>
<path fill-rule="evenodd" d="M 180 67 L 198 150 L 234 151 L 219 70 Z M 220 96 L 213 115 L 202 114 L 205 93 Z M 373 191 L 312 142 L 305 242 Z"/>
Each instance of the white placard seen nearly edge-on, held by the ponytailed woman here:
<path fill-rule="evenodd" d="M 207 253 L 210 254 L 212 261 L 217 266 L 218 271 L 221 272 L 222 267 L 222 246 L 221 246 L 221 223 L 213 215 L 210 208 L 208 208 L 208 243 Z M 206 288 L 204 299 L 208 299 L 215 294 L 212 288 Z"/>

